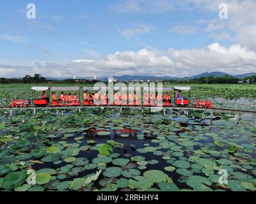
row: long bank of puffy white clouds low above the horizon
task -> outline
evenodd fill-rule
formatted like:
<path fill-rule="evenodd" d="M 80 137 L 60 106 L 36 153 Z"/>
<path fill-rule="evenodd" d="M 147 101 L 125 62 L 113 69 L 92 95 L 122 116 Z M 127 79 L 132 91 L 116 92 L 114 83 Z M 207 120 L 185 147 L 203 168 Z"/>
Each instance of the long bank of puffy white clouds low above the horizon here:
<path fill-rule="evenodd" d="M 76 59 L 68 64 L 35 63 L 33 66 L 0 66 L 1 77 L 22 77 L 40 73 L 52 77 L 112 75 L 169 75 L 189 77 L 205 71 L 241 74 L 256 71 L 256 52 L 241 45 L 165 51 L 143 48 L 138 52 L 115 52 L 94 59 Z"/>

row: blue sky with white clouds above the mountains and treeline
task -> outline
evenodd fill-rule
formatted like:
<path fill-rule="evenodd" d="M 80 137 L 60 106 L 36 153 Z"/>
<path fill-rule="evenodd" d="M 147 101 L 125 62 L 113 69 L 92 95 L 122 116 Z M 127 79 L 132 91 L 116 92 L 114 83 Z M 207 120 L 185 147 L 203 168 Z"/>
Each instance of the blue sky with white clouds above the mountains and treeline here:
<path fill-rule="evenodd" d="M 8 0 L 0 10 L 0 77 L 256 71 L 255 0 Z"/>

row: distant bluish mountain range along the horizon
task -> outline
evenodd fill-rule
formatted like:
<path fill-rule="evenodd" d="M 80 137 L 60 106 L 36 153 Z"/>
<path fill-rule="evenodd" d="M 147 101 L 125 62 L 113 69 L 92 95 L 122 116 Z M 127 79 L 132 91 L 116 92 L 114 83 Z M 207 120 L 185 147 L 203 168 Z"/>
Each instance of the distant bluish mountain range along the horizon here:
<path fill-rule="evenodd" d="M 164 76 L 164 77 L 156 77 L 156 76 L 147 76 L 147 75 L 123 75 L 123 76 L 114 76 L 115 80 L 117 81 L 121 81 L 121 82 L 131 82 L 131 81 L 161 81 L 161 80 L 186 80 L 186 79 L 194 79 L 194 78 L 200 78 L 200 77 L 210 77 L 210 76 L 214 76 L 214 77 L 224 77 L 225 75 L 229 75 L 227 73 L 224 72 L 220 72 L 220 71 L 214 71 L 214 72 L 205 72 L 202 73 L 200 75 L 195 75 L 192 77 L 170 77 L 170 76 Z M 253 73 L 246 73 L 243 75 L 229 75 L 232 77 L 236 77 L 236 78 L 244 78 L 244 77 L 252 77 L 253 75 L 256 75 L 255 72 Z M 52 77 L 47 77 L 48 79 L 66 79 L 68 77 L 61 77 L 61 78 L 52 78 Z M 72 78 L 72 77 L 69 77 Z M 83 79 L 88 79 L 88 80 L 92 80 L 92 77 L 79 77 L 79 78 L 83 78 Z M 102 82 L 107 82 L 108 81 L 108 77 L 97 77 L 98 80 L 102 81 Z"/>

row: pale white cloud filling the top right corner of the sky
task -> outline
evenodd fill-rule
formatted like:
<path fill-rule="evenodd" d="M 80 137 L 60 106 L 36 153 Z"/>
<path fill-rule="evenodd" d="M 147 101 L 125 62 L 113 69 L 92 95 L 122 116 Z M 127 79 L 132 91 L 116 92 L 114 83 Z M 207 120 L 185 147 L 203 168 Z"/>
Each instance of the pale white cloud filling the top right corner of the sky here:
<path fill-rule="evenodd" d="M 234 33 L 236 41 L 246 47 L 256 50 L 256 1 L 255 0 L 186 0 L 193 3 L 197 8 L 216 13 L 216 19 L 209 22 L 205 31 L 226 29 Z M 218 18 L 218 5 L 227 3 L 228 19 Z M 201 20 L 200 22 L 203 22 Z M 206 21 L 205 21 L 206 22 Z"/>

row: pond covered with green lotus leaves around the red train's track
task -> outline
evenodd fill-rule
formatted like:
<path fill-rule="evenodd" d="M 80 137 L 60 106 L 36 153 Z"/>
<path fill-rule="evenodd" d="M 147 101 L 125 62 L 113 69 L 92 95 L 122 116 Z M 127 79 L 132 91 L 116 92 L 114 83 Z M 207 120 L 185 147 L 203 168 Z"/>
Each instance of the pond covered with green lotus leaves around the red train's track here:
<path fill-rule="evenodd" d="M 0 85 L 0 106 L 33 85 Z M 60 86 L 60 85 L 54 85 Z M 256 85 L 191 85 L 256 110 Z M 0 110 L 0 191 L 256 191 L 256 115 L 148 108 Z"/>

